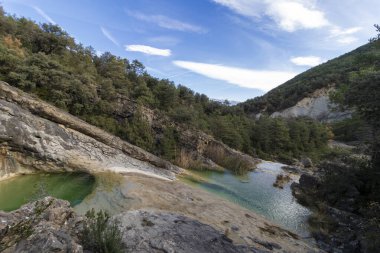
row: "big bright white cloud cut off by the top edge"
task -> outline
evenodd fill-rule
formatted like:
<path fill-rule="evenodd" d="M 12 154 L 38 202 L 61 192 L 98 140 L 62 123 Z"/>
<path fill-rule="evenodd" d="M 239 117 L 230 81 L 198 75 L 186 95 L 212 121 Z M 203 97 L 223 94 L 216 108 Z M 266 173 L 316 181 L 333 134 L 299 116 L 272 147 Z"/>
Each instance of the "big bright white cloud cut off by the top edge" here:
<path fill-rule="evenodd" d="M 250 17 L 271 18 L 281 29 L 294 32 L 299 29 L 321 28 L 329 24 L 325 14 L 308 0 L 213 0 L 234 12 Z"/>

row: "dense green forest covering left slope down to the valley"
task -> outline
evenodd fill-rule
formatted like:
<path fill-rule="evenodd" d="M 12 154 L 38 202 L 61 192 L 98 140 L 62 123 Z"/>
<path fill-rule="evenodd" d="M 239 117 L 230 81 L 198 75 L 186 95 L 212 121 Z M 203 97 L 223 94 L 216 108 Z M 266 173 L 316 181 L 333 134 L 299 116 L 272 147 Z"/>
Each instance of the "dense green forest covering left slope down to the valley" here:
<path fill-rule="evenodd" d="M 262 158 L 300 157 L 324 149 L 331 131 L 309 119 L 253 119 L 239 106 L 212 101 L 183 85 L 149 75 L 143 64 L 76 43 L 59 26 L 38 25 L 0 10 L 0 79 L 37 95 L 124 140 L 175 161 L 175 127 L 152 129 L 150 108 L 175 124 L 211 134 L 232 148 Z M 138 104 L 120 117 L 117 103 Z"/>

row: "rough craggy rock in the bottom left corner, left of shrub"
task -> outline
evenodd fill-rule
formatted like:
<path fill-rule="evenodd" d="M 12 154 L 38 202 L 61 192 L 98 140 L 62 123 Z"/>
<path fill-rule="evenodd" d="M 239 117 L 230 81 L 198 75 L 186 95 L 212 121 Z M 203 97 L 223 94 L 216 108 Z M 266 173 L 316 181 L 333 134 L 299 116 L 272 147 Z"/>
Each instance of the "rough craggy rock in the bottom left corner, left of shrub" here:
<path fill-rule="evenodd" d="M 0 211 L 0 251 L 81 253 L 83 248 L 78 243 L 81 221 L 68 201 L 51 197 L 11 213 Z"/>

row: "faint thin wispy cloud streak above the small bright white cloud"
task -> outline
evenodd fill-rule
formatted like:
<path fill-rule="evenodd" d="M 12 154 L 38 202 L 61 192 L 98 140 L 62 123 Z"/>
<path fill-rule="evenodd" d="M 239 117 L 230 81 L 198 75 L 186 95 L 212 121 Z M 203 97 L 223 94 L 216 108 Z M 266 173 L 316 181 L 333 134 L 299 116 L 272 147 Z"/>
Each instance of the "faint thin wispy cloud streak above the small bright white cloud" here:
<path fill-rule="evenodd" d="M 204 29 L 203 27 L 185 23 L 176 19 L 169 18 L 164 15 L 146 15 L 140 12 L 130 12 L 130 11 L 127 11 L 127 14 L 138 20 L 156 24 L 159 27 L 169 29 L 169 30 L 175 30 L 175 31 L 181 31 L 181 32 L 196 32 L 196 33 L 206 32 L 206 29 Z"/>

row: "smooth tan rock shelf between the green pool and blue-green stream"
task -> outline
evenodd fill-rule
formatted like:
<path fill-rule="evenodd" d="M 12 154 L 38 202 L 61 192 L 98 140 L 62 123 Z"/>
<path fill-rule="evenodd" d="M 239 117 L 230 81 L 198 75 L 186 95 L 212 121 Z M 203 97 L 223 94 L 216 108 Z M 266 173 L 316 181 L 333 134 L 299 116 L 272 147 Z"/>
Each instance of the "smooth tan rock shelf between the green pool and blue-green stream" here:
<path fill-rule="evenodd" d="M 237 245 L 273 252 L 318 252 L 314 246 L 264 217 L 215 194 L 181 181 L 164 181 L 139 174 L 123 176 L 115 188 L 89 195 L 75 207 L 108 209 L 113 214 L 125 210 L 169 212 L 210 225 Z"/>

